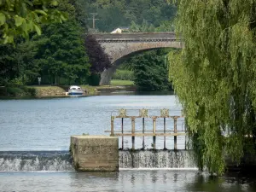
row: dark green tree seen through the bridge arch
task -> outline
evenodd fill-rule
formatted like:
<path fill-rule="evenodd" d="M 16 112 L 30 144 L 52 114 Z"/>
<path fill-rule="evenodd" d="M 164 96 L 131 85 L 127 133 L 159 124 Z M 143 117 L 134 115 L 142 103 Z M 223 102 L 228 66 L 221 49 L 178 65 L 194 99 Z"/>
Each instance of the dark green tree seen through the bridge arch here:
<path fill-rule="evenodd" d="M 134 83 L 143 90 L 167 90 L 171 88 L 165 66 L 166 51 L 148 51 L 131 58 Z"/>

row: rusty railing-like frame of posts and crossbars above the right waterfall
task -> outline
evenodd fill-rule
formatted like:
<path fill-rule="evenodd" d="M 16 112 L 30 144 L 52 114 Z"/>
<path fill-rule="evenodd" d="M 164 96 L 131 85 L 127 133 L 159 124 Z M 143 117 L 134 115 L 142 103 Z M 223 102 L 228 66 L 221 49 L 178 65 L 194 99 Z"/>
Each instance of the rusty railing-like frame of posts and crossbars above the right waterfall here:
<path fill-rule="evenodd" d="M 124 109 L 121 108 L 117 115 L 111 113 L 111 131 L 110 136 L 122 137 L 122 149 L 124 149 L 124 137 L 131 137 L 132 149 L 135 149 L 135 137 L 143 137 L 143 149 L 145 148 L 145 137 L 153 137 L 152 147 L 155 149 L 156 137 L 164 137 L 164 149 L 166 149 L 166 137 L 174 137 L 174 149 L 177 150 L 177 137 L 185 136 L 185 149 L 186 149 L 186 127 L 184 126 L 184 120 L 182 115 L 170 115 L 169 109 L 160 109 L 160 115 L 149 115 L 149 111 L 156 111 L 155 109 Z M 127 111 L 139 112 L 139 114 L 128 115 Z M 158 110 L 159 111 L 159 110 Z M 120 130 L 114 129 L 114 120 L 121 119 Z M 131 130 L 124 129 L 124 119 L 131 119 Z M 135 120 L 143 119 L 143 130 L 136 130 Z M 145 130 L 145 119 L 151 119 L 153 121 L 152 130 Z M 163 130 L 156 128 L 156 120 L 163 119 Z M 166 119 L 173 120 L 173 130 L 166 129 Z M 177 123 L 179 122 L 179 126 Z"/>

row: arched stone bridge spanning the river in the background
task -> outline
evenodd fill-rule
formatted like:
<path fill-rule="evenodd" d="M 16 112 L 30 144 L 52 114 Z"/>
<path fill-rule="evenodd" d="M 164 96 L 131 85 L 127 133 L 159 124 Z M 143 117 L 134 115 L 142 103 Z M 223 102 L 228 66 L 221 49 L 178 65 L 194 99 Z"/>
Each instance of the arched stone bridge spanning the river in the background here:
<path fill-rule="evenodd" d="M 110 84 L 112 75 L 119 64 L 132 55 L 150 49 L 183 48 L 183 43 L 174 32 L 98 33 L 94 36 L 105 49 L 112 63 L 112 67 L 102 73 L 100 84 Z"/>

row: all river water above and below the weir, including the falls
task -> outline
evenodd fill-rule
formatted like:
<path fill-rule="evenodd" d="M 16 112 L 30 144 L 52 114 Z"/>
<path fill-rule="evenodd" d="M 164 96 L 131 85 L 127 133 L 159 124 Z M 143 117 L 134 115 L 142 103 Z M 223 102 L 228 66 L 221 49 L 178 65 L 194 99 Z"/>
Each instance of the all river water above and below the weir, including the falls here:
<path fill-rule="evenodd" d="M 138 152 L 132 166 L 131 155 L 120 152 L 119 172 L 74 172 L 68 153 L 71 135 L 108 135 L 111 113 L 119 108 L 129 113 L 148 108 L 154 115 L 168 108 L 180 115 L 172 95 L 0 100 L 0 107 L 0 191 L 256 191 L 252 176 L 199 173 L 186 152 L 172 151 L 172 138 L 166 141 L 171 150 Z M 142 122 L 136 125 L 139 130 Z M 157 129 L 162 125 L 157 121 Z M 166 125 L 173 129 L 172 120 Z M 120 127 L 118 119 L 115 127 Z M 178 127 L 183 128 L 182 120 Z M 125 129 L 131 129 L 131 120 L 125 121 Z M 152 130 L 152 120 L 146 120 L 146 129 Z M 183 149 L 184 141 L 178 137 L 177 148 Z M 147 138 L 146 147 L 151 143 Z M 163 138 L 157 137 L 156 147 L 163 148 Z M 125 148 L 131 148 L 129 137 Z M 141 139 L 136 139 L 136 148 L 142 148 Z"/>

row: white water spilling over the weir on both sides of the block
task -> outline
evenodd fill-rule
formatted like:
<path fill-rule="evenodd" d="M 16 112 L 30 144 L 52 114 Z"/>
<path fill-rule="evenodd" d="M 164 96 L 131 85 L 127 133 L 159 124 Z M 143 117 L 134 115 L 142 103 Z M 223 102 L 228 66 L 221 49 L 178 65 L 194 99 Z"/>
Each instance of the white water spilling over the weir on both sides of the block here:
<path fill-rule="evenodd" d="M 119 169 L 195 168 L 187 150 L 119 151 Z M 74 171 L 68 151 L 0 152 L 0 172 Z"/>

